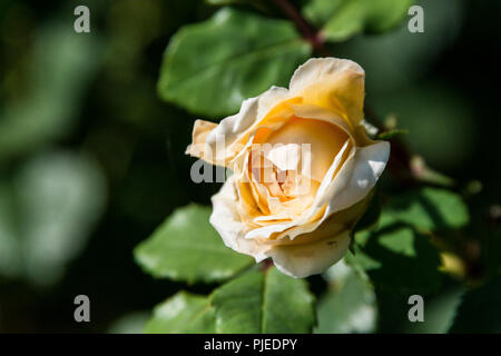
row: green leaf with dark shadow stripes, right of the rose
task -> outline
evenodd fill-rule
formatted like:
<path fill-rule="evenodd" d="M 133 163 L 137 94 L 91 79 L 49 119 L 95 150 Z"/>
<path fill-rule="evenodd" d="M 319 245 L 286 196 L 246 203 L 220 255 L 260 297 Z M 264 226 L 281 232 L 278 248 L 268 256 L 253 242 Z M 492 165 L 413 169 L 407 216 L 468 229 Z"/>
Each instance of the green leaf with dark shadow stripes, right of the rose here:
<path fill-rule="evenodd" d="M 426 187 L 391 199 L 383 209 L 381 226 L 401 221 L 422 230 L 443 230 L 460 228 L 469 220 L 468 207 L 459 195 Z"/>

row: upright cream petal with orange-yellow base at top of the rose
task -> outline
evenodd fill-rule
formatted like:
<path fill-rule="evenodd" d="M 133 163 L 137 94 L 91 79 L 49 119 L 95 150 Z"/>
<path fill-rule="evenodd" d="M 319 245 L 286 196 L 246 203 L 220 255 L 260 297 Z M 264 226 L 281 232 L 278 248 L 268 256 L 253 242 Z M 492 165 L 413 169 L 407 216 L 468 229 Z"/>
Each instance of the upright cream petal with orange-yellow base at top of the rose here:
<path fill-rule="evenodd" d="M 345 116 L 353 127 L 363 119 L 365 72 L 357 63 L 337 58 L 312 58 L 291 79 L 292 96 Z"/>

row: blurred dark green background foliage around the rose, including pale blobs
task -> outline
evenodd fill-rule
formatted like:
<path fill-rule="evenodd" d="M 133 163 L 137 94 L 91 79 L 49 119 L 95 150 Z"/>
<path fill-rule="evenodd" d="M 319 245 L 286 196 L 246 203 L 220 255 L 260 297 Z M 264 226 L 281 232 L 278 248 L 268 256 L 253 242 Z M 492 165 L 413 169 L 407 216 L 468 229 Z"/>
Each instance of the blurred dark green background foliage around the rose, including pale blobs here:
<path fill-rule="evenodd" d="M 157 80 L 178 28 L 228 2 L 87 0 L 91 32 L 78 34 L 78 1 L 0 0 L 0 332 L 139 332 L 151 306 L 185 287 L 154 280 L 132 259 L 132 248 L 174 209 L 207 205 L 218 190 L 189 179 L 193 159 L 184 150 L 198 117 L 161 101 Z M 242 11 L 283 17 L 266 1 L 236 2 Z M 322 1 L 292 2 L 310 20 L 326 21 Z M 471 224 L 450 244 L 461 245 L 469 263 L 442 258 L 475 285 L 499 267 L 501 251 L 501 121 L 493 79 L 501 61 L 501 3 L 418 3 L 424 33 L 410 33 L 404 21 L 383 34 L 354 28 L 357 34 L 341 41 L 345 33 L 332 28 L 338 42 L 331 50 L 364 67 L 367 102 L 410 131 L 403 139 L 413 151 L 456 180 Z M 364 21 L 360 26 L 370 26 Z M 383 186 L 403 189 L 389 174 Z M 410 324 L 395 294 L 374 290 L 344 264 L 310 281 L 315 294 L 327 296 L 318 306 L 321 333 L 446 332 L 464 289 L 446 277 L 426 299 L 428 323 Z M 89 324 L 73 320 L 79 294 L 90 297 Z M 481 307 L 489 295 L 499 304 L 500 294 L 494 279 L 466 301 Z M 472 318 L 463 314 L 453 330 L 468 330 Z M 479 329 L 500 332 L 499 320 L 483 320 Z"/>

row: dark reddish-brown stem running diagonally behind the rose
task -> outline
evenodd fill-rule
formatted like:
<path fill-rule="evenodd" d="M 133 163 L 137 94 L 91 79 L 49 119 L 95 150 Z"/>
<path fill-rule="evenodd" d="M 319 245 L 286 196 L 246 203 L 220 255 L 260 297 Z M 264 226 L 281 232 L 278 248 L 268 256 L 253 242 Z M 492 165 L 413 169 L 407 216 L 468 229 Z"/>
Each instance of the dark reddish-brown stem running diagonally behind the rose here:
<path fill-rule="evenodd" d="M 303 16 L 291 4 L 288 0 L 274 0 L 276 6 L 295 23 L 303 37 L 308 41 L 314 50 L 322 56 L 333 57 L 325 47 L 322 33 L 311 26 Z M 365 115 L 380 131 L 384 131 L 384 126 L 376 113 L 365 105 Z M 420 179 L 420 171 L 412 168 L 412 156 L 405 145 L 399 138 L 392 139 L 392 155 L 389 160 L 389 170 L 401 181 L 414 185 Z"/>

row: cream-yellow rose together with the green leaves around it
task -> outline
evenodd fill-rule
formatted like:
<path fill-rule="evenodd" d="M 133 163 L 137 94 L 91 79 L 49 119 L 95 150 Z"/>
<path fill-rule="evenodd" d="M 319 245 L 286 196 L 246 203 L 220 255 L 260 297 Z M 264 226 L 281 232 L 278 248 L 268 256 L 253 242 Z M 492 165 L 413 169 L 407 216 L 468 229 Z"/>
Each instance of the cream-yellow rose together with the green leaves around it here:
<path fill-rule="evenodd" d="M 407 323 L 409 295 L 433 303 L 446 275 L 464 278 L 465 261 L 450 246 L 469 222 L 468 208 L 452 190 L 422 187 L 452 180 L 410 164 L 391 177 L 410 176 L 411 185 L 385 175 L 377 189 L 390 142 L 365 130 L 376 123 L 365 120 L 365 72 L 326 55 L 330 40 L 393 28 L 411 1 L 304 2 L 297 13 L 323 26 L 312 29 L 315 38 L 269 17 L 276 9 L 264 11 L 266 2 L 248 11 L 253 2 L 237 10 L 229 1 L 167 46 L 159 97 L 204 118 L 186 154 L 205 161 L 197 167 L 230 175 L 212 205 L 177 209 L 135 249 L 154 277 L 188 288 L 220 284 L 207 296 L 167 298 L 149 333 L 393 330 L 387 326 Z M 400 159 L 393 136 L 402 130 L 392 128 L 376 137 L 392 140 L 392 159 Z M 326 286 L 318 291 L 318 279 L 305 277 L 321 273 Z M 438 299 L 449 323 L 440 332 L 460 304 L 460 294 L 451 295 Z"/>

